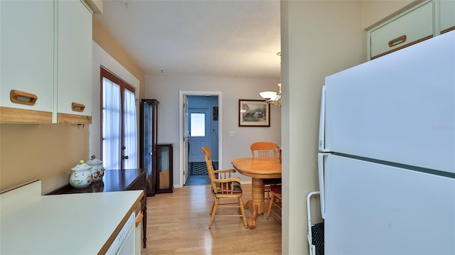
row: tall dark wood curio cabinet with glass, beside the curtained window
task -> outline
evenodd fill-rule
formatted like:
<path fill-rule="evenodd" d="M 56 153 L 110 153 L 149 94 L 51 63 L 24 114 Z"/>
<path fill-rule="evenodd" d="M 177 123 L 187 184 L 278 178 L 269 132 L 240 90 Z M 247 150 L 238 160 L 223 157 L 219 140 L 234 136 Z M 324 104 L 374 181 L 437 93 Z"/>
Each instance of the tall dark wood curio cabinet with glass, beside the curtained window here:
<path fill-rule="evenodd" d="M 140 107 L 140 168 L 146 170 L 147 196 L 156 190 L 156 138 L 158 136 L 158 104 L 156 99 L 141 99 Z"/>

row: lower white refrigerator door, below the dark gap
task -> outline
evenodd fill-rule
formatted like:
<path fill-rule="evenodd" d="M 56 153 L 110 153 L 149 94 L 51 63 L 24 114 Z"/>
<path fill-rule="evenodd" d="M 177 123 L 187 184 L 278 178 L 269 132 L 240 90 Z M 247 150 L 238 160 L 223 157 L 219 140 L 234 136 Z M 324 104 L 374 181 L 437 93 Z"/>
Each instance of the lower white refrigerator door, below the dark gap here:
<path fill-rule="evenodd" d="M 455 179 L 325 157 L 326 255 L 455 254 Z"/>

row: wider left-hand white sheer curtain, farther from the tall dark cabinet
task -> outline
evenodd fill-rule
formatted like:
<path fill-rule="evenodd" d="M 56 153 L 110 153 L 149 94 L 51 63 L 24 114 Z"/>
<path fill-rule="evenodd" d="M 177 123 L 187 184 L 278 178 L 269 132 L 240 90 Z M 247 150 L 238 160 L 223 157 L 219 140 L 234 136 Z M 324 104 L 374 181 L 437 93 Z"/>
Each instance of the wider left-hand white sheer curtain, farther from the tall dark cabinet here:
<path fill-rule="evenodd" d="M 120 169 L 122 151 L 122 100 L 120 85 L 102 78 L 102 164 Z"/>

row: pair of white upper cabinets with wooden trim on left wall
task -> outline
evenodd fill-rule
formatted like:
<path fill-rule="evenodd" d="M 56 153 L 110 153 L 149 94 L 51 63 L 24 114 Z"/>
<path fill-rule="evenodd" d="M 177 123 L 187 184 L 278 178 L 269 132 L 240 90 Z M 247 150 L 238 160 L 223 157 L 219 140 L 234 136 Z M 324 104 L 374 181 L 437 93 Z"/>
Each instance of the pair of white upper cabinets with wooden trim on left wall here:
<path fill-rule="evenodd" d="M 92 121 L 92 13 L 80 0 L 0 1 L 0 121 Z"/>

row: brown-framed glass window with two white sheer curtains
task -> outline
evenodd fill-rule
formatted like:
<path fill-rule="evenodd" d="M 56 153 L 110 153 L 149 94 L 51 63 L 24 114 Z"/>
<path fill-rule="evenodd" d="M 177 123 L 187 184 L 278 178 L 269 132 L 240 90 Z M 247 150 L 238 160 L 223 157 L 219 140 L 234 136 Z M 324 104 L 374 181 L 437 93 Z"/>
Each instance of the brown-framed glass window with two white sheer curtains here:
<path fill-rule="evenodd" d="M 106 169 L 137 168 L 135 89 L 101 68 L 102 161 Z"/>

